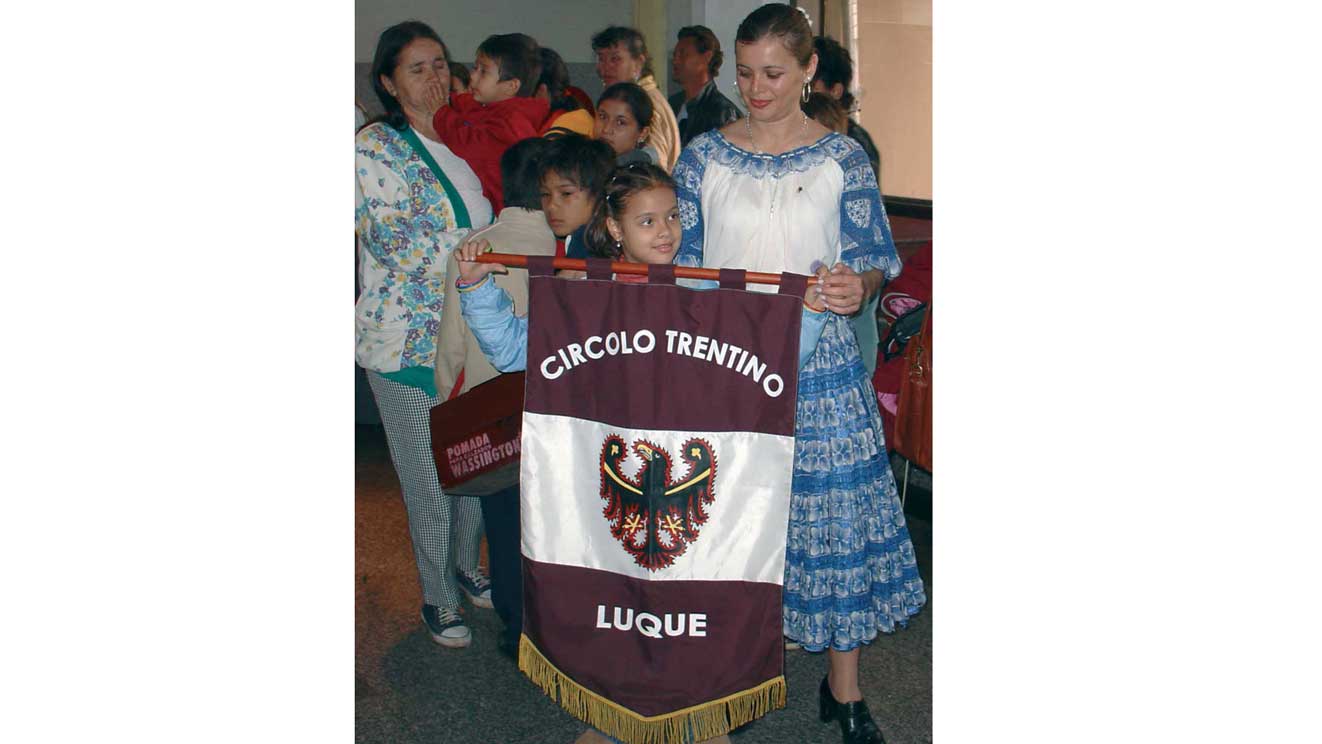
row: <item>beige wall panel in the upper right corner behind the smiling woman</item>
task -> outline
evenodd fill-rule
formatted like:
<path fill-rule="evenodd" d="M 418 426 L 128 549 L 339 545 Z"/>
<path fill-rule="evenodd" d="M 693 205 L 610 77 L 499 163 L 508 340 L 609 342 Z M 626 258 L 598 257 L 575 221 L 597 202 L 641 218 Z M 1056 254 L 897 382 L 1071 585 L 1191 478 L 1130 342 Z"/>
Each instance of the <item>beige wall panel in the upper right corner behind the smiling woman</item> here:
<path fill-rule="evenodd" d="M 932 0 L 858 0 L 854 66 L 882 192 L 932 198 Z"/>

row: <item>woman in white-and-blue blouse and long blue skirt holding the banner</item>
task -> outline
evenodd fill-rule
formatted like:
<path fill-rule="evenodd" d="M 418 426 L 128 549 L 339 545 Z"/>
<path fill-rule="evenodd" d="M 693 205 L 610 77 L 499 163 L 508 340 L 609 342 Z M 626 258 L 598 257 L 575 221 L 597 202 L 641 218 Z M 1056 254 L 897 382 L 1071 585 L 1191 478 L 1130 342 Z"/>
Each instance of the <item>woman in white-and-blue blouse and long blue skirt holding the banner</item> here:
<path fill-rule="evenodd" d="M 784 4 L 754 11 L 735 59 L 748 116 L 695 137 L 676 165 L 676 263 L 832 267 L 822 283 L 832 320 L 798 378 L 785 636 L 830 657 L 822 720 L 839 722 L 845 744 L 878 744 L 858 683 L 861 646 L 907 624 L 927 596 L 849 316 L 900 262 L 867 155 L 800 110 L 817 66 L 806 19 Z"/>

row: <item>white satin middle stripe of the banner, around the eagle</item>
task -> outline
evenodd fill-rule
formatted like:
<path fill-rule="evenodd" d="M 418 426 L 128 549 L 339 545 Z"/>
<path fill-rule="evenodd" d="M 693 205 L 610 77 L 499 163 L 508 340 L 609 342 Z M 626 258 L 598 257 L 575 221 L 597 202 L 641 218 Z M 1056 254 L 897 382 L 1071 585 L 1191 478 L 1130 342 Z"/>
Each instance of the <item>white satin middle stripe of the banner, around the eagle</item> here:
<path fill-rule="evenodd" d="M 600 497 L 602 445 L 619 435 L 628 451 L 621 474 L 635 478 L 637 440 L 670 455 L 670 481 L 687 480 L 680 448 L 691 437 L 711 445 L 715 500 L 673 566 L 649 571 L 613 535 Z M 524 555 L 533 560 L 598 568 L 648 580 L 784 580 L 789 480 L 795 440 L 754 432 L 625 429 L 571 416 L 524 414 L 521 518 Z M 756 525 L 760 529 L 752 529 Z"/>

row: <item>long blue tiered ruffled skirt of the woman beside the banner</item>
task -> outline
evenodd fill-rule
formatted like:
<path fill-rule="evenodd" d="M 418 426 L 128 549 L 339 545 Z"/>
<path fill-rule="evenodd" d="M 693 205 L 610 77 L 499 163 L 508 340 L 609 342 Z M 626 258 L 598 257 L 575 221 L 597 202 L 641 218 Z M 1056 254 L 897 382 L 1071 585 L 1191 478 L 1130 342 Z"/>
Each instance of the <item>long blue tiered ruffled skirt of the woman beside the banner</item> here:
<path fill-rule="evenodd" d="M 785 636 L 847 651 L 927 603 L 882 435 L 876 394 L 843 317 L 798 373 L 785 548 Z"/>

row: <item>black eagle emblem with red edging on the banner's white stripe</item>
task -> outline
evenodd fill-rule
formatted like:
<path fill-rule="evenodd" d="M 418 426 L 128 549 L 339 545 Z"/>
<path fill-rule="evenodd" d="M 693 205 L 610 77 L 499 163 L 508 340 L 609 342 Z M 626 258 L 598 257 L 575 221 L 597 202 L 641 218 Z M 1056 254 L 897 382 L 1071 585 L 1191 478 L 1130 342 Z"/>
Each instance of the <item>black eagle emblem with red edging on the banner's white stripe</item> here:
<path fill-rule="evenodd" d="M 685 441 L 680 457 L 689 472 L 682 481 L 672 481 L 670 453 L 662 447 L 640 439 L 633 452 L 642 466 L 631 478 L 620 470 L 628 456 L 624 439 L 612 433 L 602 443 L 602 514 L 633 560 L 658 571 L 698 539 L 698 526 L 707 521 L 705 507 L 715 500 L 717 457 L 707 441 Z"/>

